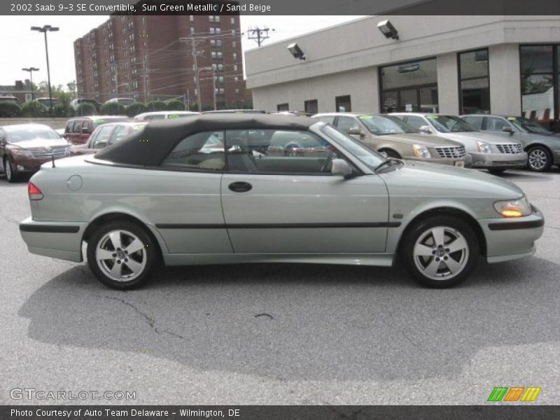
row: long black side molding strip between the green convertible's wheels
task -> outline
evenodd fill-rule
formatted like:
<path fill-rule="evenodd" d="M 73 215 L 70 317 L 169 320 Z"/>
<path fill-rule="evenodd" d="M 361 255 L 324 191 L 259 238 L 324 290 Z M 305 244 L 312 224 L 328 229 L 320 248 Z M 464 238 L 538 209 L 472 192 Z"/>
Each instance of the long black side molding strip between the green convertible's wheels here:
<path fill-rule="evenodd" d="M 156 223 L 158 229 L 299 229 L 299 228 L 398 228 L 400 222 L 379 223 L 237 223 L 230 225 L 179 225 Z"/>

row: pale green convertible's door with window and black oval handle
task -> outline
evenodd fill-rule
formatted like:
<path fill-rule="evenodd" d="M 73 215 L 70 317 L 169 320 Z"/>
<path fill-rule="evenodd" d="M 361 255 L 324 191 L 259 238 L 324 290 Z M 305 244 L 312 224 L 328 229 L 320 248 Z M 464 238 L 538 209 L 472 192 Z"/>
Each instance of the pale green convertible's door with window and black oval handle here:
<path fill-rule="evenodd" d="M 384 182 L 377 175 L 332 176 L 328 159 L 344 155 L 317 134 L 264 131 L 268 150 L 255 150 L 244 130 L 225 136 L 228 167 L 221 193 L 235 253 L 384 252 Z M 278 153 L 276 144 L 286 143 L 288 135 L 300 148 Z"/>

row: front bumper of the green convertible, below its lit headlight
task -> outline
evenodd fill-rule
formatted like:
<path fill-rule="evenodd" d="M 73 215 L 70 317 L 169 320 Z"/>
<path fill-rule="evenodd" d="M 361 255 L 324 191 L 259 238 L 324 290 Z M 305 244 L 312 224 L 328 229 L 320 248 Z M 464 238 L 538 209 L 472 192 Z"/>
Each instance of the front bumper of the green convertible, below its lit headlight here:
<path fill-rule="evenodd" d="M 517 260 L 535 253 L 535 241 L 545 230 L 545 218 L 535 209 L 519 218 L 491 218 L 479 221 L 486 237 L 488 262 Z"/>

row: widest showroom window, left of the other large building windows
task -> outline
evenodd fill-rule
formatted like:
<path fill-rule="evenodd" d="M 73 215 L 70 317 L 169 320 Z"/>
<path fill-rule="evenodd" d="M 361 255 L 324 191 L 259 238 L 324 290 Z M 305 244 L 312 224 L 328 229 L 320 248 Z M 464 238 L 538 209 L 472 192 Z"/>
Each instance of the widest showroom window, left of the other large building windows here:
<path fill-rule="evenodd" d="M 435 58 L 380 67 L 379 83 L 382 113 L 439 111 Z"/>

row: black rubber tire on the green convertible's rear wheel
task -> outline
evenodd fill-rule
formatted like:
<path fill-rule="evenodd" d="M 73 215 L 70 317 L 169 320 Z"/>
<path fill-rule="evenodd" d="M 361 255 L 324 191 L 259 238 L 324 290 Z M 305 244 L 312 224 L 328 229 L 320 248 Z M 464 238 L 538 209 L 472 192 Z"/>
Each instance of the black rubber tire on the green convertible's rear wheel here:
<path fill-rule="evenodd" d="M 118 241 L 121 242 L 122 246 L 113 246 L 111 239 L 108 239 L 110 232 L 121 232 L 118 235 Z M 139 240 L 144 246 L 139 251 L 129 255 L 126 253 L 126 248 L 132 245 L 131 239 Z M 109 258 L 102 261 L 97 260 L 96 253 L 98 247 L 100 252 L 111 252 L 112 260 Z M 113 253 L 113 251 L 115 252 Z M 146 229 L 137 223 L 129 221 L 106 223 L 101 228 L 97 228 L 87 241 L 87 265 L 90 266 L 93 274 L 101 283 L 118 290 L 130 290 L 144 285 L 150 279 L 151 272 L 157 265 L 159 257 L 158 248 L 151 236 L 146 232 Z M 110 272 L 109 270 L 116 264 L 120 266 L 120 281 L 110 276 L 112 271 Z M 144 267 L 134 272 L 131 267 L 138 267 L 138 265 L 143 265 Z"/>

